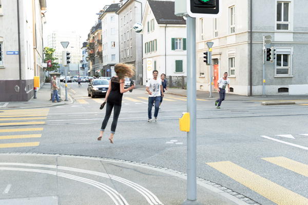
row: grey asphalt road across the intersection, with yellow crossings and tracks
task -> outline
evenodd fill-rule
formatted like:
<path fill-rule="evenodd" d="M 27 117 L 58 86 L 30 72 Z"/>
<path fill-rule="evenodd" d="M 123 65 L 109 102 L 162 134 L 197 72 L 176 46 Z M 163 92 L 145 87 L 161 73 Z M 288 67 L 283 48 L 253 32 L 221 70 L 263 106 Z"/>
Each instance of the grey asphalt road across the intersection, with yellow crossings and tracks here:
<path fill-rule="evenodd" d="M 33 110 L 47 116 L 25 120 L 16 114 L 2 120 L 1 129 L 36 128 L 35 134 L 41 136 L 2 138 L 2 144 L 29 147 L 13 145 L 0 152 L 100 156 L 186 172 L 186 133 L 179 130 L 185 97 L 166 95 L 158 121 L 147 122 L 146 91 L 124 93 L 114 144 L 110 144 L 112 115 L 102 141 L 97 140 L 105 115 L 105 108 L 99 109 L 104 97 L 88 97 L 87 84 L 68 87 L 74 104 Z M 238 100 L 223 101 L 216 109 L 214 100 L 197 100 L 197 176 L 260 204 L 308 204 L 307 114 L 307 105 L 262 106 L 259 101 Z M 40 117 L 46 119 L 33 119 Z M 39 143 L 27 144 L 33 141 Z"/>

